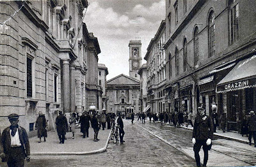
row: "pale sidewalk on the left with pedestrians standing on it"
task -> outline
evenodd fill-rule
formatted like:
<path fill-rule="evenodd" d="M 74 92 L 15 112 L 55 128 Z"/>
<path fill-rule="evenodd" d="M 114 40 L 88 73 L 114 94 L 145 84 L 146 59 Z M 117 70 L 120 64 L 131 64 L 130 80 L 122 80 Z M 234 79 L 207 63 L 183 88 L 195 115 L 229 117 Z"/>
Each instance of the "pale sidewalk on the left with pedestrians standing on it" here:
<path fill-rule="evenodd" d="M 54 155 L 85 155 L 104 152 L 108 146 L 111 129 L 100 129 L 98 138 L 99 142 L 93 142 L 94 131 L 89 128 L 89 137 L 83 138 L 80 128 L 76 129 L 75 139 L 72 139 L 72 133 L 66 134 L 67 140 L 64 144 L 60 144 L 58 134 L 55 131 L 48 131 L 46 142 L 42 138 L 42 142 L 38 143 L 39 138 L 34 136 L 29 138 L 31 156 L 54 156 Z"/>

